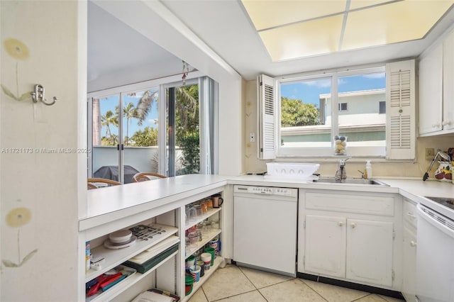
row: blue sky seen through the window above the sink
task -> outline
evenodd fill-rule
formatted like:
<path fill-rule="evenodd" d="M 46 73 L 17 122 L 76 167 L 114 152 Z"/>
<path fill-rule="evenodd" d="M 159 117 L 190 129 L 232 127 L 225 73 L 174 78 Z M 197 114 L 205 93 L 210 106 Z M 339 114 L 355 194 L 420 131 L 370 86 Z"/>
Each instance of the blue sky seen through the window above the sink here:
<path fill-rule="evenodd" d="M 385 87 L 384 72 L 364 74 L 353 77 L 341 77 L 338 83 L 339 92 L 381 89 Z M 316 104 L 319 107 L 319 94 L 331 93 L 331 78 L 282 84 L 281 96 L 289 99 L 300 99 L 304 103 Z"/>

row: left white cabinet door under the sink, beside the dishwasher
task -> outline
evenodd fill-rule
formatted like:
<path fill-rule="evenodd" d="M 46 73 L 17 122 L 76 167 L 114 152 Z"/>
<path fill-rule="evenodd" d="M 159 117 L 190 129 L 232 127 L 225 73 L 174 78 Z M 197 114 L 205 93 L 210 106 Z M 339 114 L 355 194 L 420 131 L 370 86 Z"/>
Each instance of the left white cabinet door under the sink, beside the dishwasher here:
<path fill-rule="evenodd" d="M 345 218 L 306 216 L 304 269 L 345 277 Z"/>

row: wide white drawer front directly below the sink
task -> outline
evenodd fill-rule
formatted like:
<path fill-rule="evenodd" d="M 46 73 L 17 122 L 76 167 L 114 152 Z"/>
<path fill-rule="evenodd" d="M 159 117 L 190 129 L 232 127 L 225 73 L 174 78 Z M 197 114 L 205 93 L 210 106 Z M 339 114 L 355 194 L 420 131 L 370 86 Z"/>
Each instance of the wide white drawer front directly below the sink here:
<path fill-rule="evenodd" d="M 307 209 L 394 216 L 394 198 L 373 195 L 306 192 Z"/>

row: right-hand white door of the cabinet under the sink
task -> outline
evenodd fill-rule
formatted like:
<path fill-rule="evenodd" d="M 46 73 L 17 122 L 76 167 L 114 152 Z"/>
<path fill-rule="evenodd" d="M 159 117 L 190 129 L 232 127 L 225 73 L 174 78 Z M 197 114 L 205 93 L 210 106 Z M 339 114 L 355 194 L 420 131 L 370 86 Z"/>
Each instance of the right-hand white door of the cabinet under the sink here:
<path fill-rule="evenodd" d="M 347 220 L 347 279 L 392 286 L 392 223 Z"/>

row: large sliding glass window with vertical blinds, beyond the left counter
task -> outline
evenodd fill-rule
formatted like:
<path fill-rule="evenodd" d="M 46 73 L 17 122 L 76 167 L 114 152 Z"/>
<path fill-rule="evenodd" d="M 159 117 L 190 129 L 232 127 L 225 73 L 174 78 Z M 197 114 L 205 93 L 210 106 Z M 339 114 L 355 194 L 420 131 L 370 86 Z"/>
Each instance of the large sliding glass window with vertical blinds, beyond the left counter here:
<path fill-rule="evenodd" d="M 89 94 L 89 177 L 217 173 L 217 83 L 170 79 Z"/>

